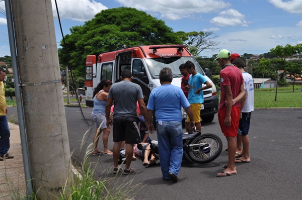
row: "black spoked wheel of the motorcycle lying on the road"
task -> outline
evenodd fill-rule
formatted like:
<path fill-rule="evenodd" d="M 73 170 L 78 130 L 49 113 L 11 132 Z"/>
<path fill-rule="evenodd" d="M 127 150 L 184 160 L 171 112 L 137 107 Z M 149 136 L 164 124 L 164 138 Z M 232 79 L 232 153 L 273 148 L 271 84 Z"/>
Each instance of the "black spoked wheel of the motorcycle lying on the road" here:
<path fill-rule="evenodd" d="M 187 150 L 188 156 L 197 163 L 208 163 L 215 160 L 221 153 L 221 139 L 211 133 L 202 134 L 195 138 L 191 144 L 207 143 L 207 147 L 195 146 Z"/>

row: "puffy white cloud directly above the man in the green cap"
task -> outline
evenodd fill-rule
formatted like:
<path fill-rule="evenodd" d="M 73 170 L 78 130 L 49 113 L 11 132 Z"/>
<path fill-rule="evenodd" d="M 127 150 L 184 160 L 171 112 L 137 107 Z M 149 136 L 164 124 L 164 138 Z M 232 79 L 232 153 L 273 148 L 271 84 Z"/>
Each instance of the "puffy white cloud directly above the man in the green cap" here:
<path fill-rule="evenodd" d="M 248 26 L 248 22 L 244 20 L 245 15 L 239 13 L 237 10 L 229 9 L 222 11 L 218 14 L 219 16 L 214 17 L 210 20 L 210 23 L 217 26 Z"/>

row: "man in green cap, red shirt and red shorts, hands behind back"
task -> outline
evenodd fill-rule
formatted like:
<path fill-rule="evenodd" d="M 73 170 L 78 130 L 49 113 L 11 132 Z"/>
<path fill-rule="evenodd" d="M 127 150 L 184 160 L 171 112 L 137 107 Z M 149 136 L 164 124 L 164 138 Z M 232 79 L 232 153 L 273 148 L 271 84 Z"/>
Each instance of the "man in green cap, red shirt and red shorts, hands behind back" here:
<path fill-rule="evenodd" d="M 230 61 L 231 53 L 222 49 L 217 58 L 221 67 L 220 75 L 220 103 L 218 121 L 223 135 L 228 141 L 229 163 L 223 165 L 225 170 L 217 173 L 218 177 L 236 175 L 235 154 L 237 147 L 237 131 L 239 126 L 241 104 L 244 105 L 244 80 L 240 70 Z M 243 99 L 243 101 L 241 101 Z M 243 107 L 243 106 L 242 106 Z"/>

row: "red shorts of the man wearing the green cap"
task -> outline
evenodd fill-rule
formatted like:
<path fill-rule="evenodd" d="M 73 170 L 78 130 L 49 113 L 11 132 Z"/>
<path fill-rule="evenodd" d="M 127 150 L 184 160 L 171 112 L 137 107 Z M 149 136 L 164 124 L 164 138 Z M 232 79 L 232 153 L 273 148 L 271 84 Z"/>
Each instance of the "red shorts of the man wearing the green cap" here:
<path fill-rule="evenodd" d="M 218 109 L 218 121 L 221 131 L 225 137 L 236 137 L 239 127 L 240 108 L 232 106 L 231 126 L 224 126 L 226 108 Z"/>

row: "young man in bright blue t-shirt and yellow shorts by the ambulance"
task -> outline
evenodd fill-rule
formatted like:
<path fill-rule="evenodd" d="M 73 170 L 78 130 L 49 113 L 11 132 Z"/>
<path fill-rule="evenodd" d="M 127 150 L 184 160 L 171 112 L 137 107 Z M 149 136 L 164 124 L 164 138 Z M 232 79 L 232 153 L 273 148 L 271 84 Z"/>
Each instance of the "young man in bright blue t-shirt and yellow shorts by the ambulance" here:
<path fill-rule="evenodd" d="M 212 84 L 206 80 L 206 78 L 198 73 L 195 69 L 195 65 L 191 61 L 185 63 L 185 67 L 188 73 L 190 73 L 189 82 L 188 82 L 188 101 L 191 105 L 193 111 L 195 126 L 198 131 L 201 131 L 200 123 L 200 109 L 203 103 L 203 91 L 204 89 L 211 88 Z M 203 87 L 203 84 L 205 86 Z M 188 117 L 188 122 L 190 122 L 190 117 Z"/>

